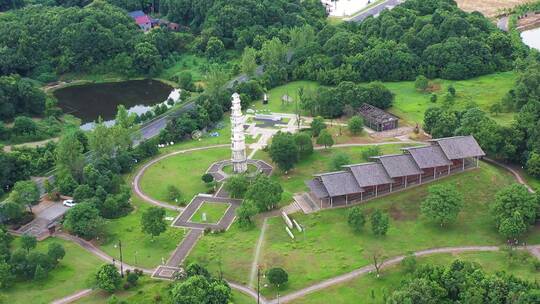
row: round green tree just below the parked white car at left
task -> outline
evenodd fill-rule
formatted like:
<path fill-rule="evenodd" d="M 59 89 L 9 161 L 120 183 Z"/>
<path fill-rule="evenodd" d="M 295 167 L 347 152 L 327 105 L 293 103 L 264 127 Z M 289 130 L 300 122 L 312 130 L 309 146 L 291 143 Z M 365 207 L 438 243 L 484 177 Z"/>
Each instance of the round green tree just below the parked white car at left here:
<path fill-rule="evenodd" d="M 89 203 L 70 208 L 64 218 L 64 227 L 84 239 L 92 239 L 101 231 L 103 219 L 99 210 Z"/>

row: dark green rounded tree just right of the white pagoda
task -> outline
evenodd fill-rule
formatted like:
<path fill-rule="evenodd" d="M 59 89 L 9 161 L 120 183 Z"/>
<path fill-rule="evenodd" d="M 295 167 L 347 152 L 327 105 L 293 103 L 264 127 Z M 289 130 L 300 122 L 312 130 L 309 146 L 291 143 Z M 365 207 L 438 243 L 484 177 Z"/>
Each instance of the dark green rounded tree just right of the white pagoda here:
<path fill-rule="evenodd" d="M 298 162 L 298 146 L 291 133 L 278 132 L 270 144 L 270 157 L 282 171 L 291 170 Z"/>

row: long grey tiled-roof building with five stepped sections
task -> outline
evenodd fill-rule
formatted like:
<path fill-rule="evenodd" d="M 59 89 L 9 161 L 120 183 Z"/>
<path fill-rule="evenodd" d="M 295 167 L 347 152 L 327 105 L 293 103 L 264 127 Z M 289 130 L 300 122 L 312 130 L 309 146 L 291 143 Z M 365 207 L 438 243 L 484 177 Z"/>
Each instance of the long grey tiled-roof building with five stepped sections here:
<path fill-rule="evenodd" d="M 403 148 L 403 154 L 383 155 L 372 162 L 347 165 L 343 171 L 316 174 L 306 182 L 309 197 L 321 208 L 347 205 L 478 167 L 484 151 L 472 136 L 429 141 Z"/>

